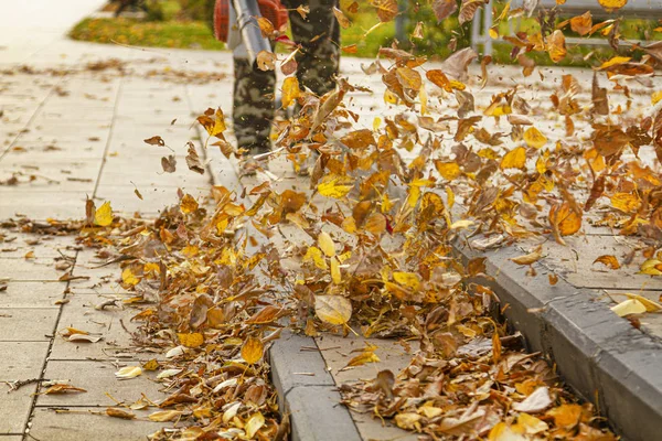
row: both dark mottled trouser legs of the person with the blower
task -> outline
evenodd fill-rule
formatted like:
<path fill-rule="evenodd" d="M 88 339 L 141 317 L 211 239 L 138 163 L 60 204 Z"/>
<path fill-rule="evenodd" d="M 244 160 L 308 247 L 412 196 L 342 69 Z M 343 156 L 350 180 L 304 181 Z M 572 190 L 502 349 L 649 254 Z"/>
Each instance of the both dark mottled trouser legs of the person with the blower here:
<path fill-rule="evenodd" d="M 333 15 L 338 0 L 282 0 L 290 10 L 289 21 L 295 43 L 301 45 L 297 56 L 297 78 L 321 96 L 333 89 L 333 76 L 340 62 L 340 26 Z M 306 20 L 296 11 L 308 6 Z M 269 150 L 274 119 L 276 73 L 253 68 L 247 60 L 234 58 L 233 119 L 237 143 L 252 152 Z"/>

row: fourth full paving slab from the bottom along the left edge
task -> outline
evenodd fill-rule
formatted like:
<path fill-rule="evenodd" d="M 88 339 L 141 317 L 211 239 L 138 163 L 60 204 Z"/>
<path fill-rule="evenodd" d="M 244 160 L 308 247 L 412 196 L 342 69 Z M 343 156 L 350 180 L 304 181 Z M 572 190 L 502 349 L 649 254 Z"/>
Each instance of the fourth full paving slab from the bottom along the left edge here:
<path fill-rule="evenodd" d="M 64 283 L 9 282 L 0 291 L 0 308 L 54 308 L 65 288 Z"/>

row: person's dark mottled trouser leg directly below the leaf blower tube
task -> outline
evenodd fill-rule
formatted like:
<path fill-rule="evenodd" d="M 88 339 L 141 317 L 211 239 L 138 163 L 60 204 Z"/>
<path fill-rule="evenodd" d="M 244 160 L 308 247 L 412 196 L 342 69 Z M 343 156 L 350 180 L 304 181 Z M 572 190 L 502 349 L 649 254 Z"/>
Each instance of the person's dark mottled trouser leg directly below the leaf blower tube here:
<path fill-rule="evenodd" d="M 274 71 L 254 68 L 246 58 L 234 58 L 234 130 L 239 148 L 250 154 L 265 153 L 271 147 L 269 133 L 274 119 Z"/>

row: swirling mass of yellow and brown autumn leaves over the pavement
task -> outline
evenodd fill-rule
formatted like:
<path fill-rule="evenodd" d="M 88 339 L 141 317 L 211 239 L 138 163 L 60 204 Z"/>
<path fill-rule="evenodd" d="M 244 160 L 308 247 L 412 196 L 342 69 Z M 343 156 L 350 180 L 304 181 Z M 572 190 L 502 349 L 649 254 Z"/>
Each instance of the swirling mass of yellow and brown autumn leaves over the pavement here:
<path fill-rule="evenodd" d="M 621 3 L 600 1 L 609 9 Z M 431 4 L 438 20 L 458 10 L 455 1 Z M 460 22 L 485 4 L 463 0 Z M 394 0 L 372 7 L 380 22 L 397 14 Z M 343 28 L 352 25 L 343 9 L 334 10 Z M 526 6 L 506 8 L 499 20 L 528 12 Z M 263 32 L 273 30 L 268 24 L 260 23 Z M 581 35 L 601 33 L 612 45 L 620 35 L 618 20 L 592 24 L 590 14 L 503 35 L 523 67 L 522 84 L 536 71 L 527 54 L 546 53 L 555 63 L 566 57 L 568 26 Z M 317 97 L 293 76 L 285 79 L 284 106 L 296 104 L 297 111 L 276 121 L 275 155 L 299 170 L 317 153 L 308 190 L 282 190 L 267 179 L 246 184 L 242 194 L 215 186 L 211 204 L 180 192 L 179 203 L 153 220 L 120 218 L 110 203 L 97 208 L 89 201 L 86 220 L 17 225 L 78 233 L 82 244 L 121 256 L 122 288 L 135 294 L 131 303 L 147 304 L 132 319 L 140 324 L 136 344 L 162 357 L 115 375 L 158 372 L 168 397 L 122 402 L 106 413 L 131 420 L 131 410 L 148 409 L 150 420 L 177 423 L 153 440 L 286 439 L 288 417 L 278 408 L 266 359 L 284 327 L 417 341 L 402 372 L 378 370 L 341 392 L 351 409 L 420 439 L 612 440 L 596 409 L 495 319 L 499 299 L 480 282 L 488 277 L 485 258 L 462 262 L 452 245 L 463 240 L 485 250 L 533 240 L 512 260 L 535 273 L 546 240 L 565 245 L 583 226 L 605 226 L 641 240 L 633 251 L 647 258 L 640 273 L 662 275 L 662 109 L 631 108 L 634 88 L 650 90 L 653 105 L 660 100 L 653 79 L 661 56 L 654 44 L 640 49 L 638 57 L 596 60 L 588 82 L 564 75 L 547 97 L 532 100 L 527 86 L 513 82 L 482 104 L 472 90 L 489 84 L 491 60 L 483 58 L 477 77 L 468 69 L 478 57 L 470 49 L 433 64 L 395 45 L 382 47 L 363 68 L 381 76 L 389 111 L 370 121 L 350 103 L 366 93 L 377 99 L 375 90 L 340 77 L 334 90 Z M 284 57 L 291 74 L 293 58 Z M 277 65 L 263 54 L 260 68 Z M 197 122 L 209 135 L 206 148 L 241 157 L 225 138 L 222 109 L 210 108 Z M 166 146 L 158 135 L 145 142 Z M 203 160 L 191 144 L 186 149 L 188 166 L 203 173 Z M 404 153 L 415 157 L 405 160 Z M 162 164 L 173 172 L 174 155 Z M 274 176 L 258 176 L 265 174 Z M 284 228 L 296 230 L 297 239 L 276 246 L 269 238 Z M 610 255 L 592 263 L 621 268 Z M 551 284 L 557 280 L 549 276 Z M 660 308 L 630 294 L 613 310 L 630 316 Z M 68 338 L 86 335 L 66 332 Z M 378 366 L 375 348 L 351 355 L 343 369 Z M 49 390 L 84 391 L 66 385 Z"/>

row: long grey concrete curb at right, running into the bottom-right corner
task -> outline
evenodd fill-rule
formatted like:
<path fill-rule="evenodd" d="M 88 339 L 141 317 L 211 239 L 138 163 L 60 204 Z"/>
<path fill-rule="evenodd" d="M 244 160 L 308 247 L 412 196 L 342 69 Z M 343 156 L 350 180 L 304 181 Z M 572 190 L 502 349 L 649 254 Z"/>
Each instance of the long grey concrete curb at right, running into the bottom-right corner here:
<path fill-rule="evenodd" d="M 634 329 L 597 300 L 600 293 L 577 289 L 559 277 L 551 286 L 544 259 L 537 272 L 510 258 L 516 247 L 477 252 L 459 239 L 453 244 L 465 259 L 487 257 L 481 279 L 501 300 L 504 315 L 541 351 L 580 396 L 597 406 L 613 429 L 632 441 L 658 439 L 662 432 L 662 343 Z M 508 308 L 504 308 L 508 305 Z M 532 312 L 533 310 L 534 312 Z"/>

